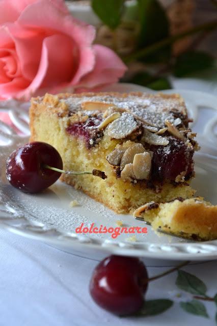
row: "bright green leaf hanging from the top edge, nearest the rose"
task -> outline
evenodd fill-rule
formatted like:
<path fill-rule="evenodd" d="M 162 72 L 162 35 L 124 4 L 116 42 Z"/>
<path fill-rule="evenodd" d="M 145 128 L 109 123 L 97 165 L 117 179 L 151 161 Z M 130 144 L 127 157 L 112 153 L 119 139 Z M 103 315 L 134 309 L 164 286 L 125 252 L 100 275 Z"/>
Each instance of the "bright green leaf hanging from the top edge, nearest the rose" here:
<path fill-rule="evenodd" d="M 123 0 L 92 0 L 93 11 L 112 30 L 120 24 L 123 6 Z"/>

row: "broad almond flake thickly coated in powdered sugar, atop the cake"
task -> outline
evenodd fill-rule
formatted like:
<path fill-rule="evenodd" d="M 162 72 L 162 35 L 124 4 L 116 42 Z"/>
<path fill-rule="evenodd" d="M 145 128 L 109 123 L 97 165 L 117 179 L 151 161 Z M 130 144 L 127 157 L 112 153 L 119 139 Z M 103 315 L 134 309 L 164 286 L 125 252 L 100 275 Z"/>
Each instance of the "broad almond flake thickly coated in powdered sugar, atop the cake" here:
<path fill-rule="evenodd" d="M 124 112 L 120 118 L 116 119 L 108 126 L 107 130 L 111 138 L 123 139 L 135 131 L 137 127 L 137 121 L 135 121 L 134 117 Z"/>

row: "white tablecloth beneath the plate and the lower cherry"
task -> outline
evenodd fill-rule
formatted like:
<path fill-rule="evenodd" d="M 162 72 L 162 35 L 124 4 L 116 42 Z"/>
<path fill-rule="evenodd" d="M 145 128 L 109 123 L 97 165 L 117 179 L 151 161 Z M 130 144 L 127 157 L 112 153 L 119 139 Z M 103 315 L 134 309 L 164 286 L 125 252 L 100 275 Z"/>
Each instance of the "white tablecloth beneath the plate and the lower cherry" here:
<path fill-rule="evenodd" d="M 216 94 L 216 85 L 191 80 L 192 87 Z M 189 85 L 189 84 L 188 84 Z M 180 301 L 192 295 L 180 291 L 175 280 L 177 272 L 151 282 L 147 299 L 172 298 L 175 304 L 163 314 L 141 318 L 119 318 L 99 308 L 89 294 L 89 280 L 97 261 L 64 253 L 44 243 L 0 230 L 0 326 L 79 325 L 214 325 L 216 307 L 205 302 L 210 318 L 184 312 Z M 156 265 L 159 265 L 159 263 Z M 149 276 L 168 267 L 148 267 Z M 183 268 L 207 285 L 207 294 L 217 293 L 217 261 L 195 263 Z M 181 296 L 178 297 L 177 294 Z"/>

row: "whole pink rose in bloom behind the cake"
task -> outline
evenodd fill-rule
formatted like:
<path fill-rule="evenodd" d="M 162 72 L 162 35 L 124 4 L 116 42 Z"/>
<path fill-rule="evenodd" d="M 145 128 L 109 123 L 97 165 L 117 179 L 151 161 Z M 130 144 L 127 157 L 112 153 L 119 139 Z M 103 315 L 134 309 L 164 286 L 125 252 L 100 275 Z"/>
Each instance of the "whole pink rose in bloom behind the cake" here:
<path fill-rule="evenodd" d="M 0 0 L 0 99 L 115 83 L 126 66 L 62 0 Z"/>

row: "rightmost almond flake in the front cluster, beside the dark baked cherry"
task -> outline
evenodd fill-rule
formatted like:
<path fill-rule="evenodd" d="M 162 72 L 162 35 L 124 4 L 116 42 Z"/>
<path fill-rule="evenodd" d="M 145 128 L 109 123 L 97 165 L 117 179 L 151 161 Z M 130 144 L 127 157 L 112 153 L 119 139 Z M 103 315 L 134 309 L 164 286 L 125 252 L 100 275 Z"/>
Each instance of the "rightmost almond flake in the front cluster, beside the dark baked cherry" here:
<path fill-rule="evenodd" d="M 148 179 L 151 171 L 151 155 L 148 152 L 135 154 L 132 168 L 136 179 Z"/>

